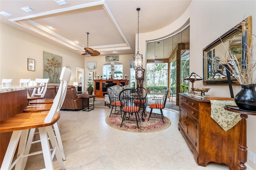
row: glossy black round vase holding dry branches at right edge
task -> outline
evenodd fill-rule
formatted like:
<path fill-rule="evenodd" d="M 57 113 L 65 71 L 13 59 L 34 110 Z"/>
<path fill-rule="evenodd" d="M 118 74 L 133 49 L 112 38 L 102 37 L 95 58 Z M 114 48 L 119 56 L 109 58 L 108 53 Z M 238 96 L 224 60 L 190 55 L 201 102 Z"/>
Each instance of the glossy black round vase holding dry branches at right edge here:
<path fill-rule="evenodd" d="M 236 105 L 242 110 L 256 111 L 256 84 L 244 84 L 241 87 L 235 96 Z"/>

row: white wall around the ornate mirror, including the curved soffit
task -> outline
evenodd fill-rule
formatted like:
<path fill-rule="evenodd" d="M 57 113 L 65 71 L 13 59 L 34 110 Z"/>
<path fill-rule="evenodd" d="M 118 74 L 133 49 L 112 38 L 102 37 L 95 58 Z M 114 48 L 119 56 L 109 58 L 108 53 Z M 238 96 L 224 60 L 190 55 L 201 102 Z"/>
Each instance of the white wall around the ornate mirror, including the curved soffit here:
<path fill-rule="evenodd" d="M 189 20 L 190 72 L 194 71 L 203 77 L 202 49 L 248 16 L 252 16 L 252 34 L 256 34 L 255 0 L 192 0 L 186 12 L 174 23 L 154 32 L 139 34 L 140 53 L 146 56 L 147 41 L 166 37 L 174 33 Z M 256 40 L 254 40 L 254 43 L 255 42 Z M 144 57 L 144 59 L 146 58 Z M 254 61 L 255 60 L 256 56 L 254 54 Z M 145 63 L 145 60 L 143 62 Z M 198 65 L 201 65 L 201 67 L 198 67 Z M 195 82 L 194 86 L 204 87 L 202 81 Z M 207 85 L 205 87 L 210 88 L 207 95 L 230 97 L 228 85 Z M 240 89 L 241 87 L 239 85 L 233 86 L 234 95 L 238 93 Z M 249 115 L 247 119 L 247 146 L 248 150 L 256 154 L 256 116 Z M 249 156 L 247 164 L 252 169 L 256 169 L 256 165 L 249 161 Z"/>

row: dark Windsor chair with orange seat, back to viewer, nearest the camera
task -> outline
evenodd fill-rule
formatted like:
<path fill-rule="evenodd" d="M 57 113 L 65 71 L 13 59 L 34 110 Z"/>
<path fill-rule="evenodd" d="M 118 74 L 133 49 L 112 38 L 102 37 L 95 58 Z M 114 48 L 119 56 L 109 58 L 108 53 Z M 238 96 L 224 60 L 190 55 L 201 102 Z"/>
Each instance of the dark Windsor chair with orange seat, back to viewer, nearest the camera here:
<path fill-rule="evenodd" d="M 141 108 L 141 97 L 135 89 L 124 89 L 119 94 L 120 108 L 123 112 L 122 124 L 124 121 L 136 121 L 137 127 L 139 128 L 138 122 L 140 121 L 140 108 Z M 134 102 L 134 101 L 139 101 Z M 122 114 L 122 113 L 121 113 Z M 135 117 L 135 118 L 134 118 Z"/>

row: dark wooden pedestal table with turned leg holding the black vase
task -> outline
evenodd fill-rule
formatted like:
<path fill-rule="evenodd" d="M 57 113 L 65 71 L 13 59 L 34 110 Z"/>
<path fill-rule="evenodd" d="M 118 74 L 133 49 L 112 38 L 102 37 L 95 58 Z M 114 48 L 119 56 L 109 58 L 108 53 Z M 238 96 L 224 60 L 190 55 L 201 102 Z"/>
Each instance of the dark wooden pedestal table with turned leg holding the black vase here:
<path fill-rule="evenodd" d="M 239 144 L 238 144 L 238 159 L 240 163 L 238 163 L 238 168 L 240 170 L 245 170 L 246 166 L 244 165 L 247 162 L 247 138 L 246 138 L 246 119 L 248 118 L 248 115 L 254 115 L 256 116 L 256 111 L 245 111 L 242 109 L 239 109 L 237 106 L 224 106 L 224 109 L 227 111 L 240 113 L 241 120 L 241 127 L 240 127 L 240 138 L 239 138 Z"/>

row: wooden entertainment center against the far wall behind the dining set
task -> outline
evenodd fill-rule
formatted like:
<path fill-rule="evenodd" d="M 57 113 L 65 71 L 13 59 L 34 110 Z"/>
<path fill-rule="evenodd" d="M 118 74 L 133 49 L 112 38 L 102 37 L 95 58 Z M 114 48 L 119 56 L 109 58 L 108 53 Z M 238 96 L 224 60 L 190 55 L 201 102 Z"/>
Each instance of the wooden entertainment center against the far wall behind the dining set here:
<path fill-rule="evenodd" d="M 129 80 L 125 79 L 100 79 L 94 80 L 94 95 L 95 97 L 104 97 L 107 93 L 107 88 L 114 85 L 128 85 Z"/>

